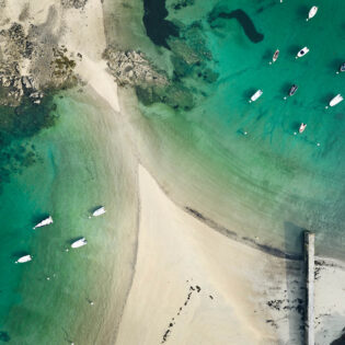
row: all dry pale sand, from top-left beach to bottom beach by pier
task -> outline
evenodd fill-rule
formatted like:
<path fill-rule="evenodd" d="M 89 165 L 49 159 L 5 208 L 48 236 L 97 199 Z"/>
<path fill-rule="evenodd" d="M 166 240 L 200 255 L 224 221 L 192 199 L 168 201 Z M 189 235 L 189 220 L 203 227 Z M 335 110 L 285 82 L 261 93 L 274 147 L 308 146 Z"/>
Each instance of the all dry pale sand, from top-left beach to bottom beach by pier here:
<path fill-rule="evenodd" d="M 25 3 L 30 4 L 25 28 L 45 23 L 54 4 L 58 13 L 54 33 L 59 35 L 59 43 L 74 57 L 82 55 L 76 71 L 118 114 L 117 85 L 102 60 L 106 39 L 101 1 L 89 0 L 82 10 L 64 10 L 56 0 L 8 1 L 0 13 L 3 27 L 18 21 Z M 25 61 L 22 69 L 28 69 Z M 120 117 L 113 116 L 112 120 L 122 124 Z M 136 130 L 128 130 L 128 138 L 123 136 L 124 146 L 138 143 Z M 138 153 L 128 154 L 136 160 Z M 137 262 L 116 344 L 160 344 L 168 330 L 166 343 L 176 345 L 302 343 L 297 309 L 303 296 L 299 263 L 216 232 L 175 206 L 142 166 L 139 184 Z M 336 262 L 327 264 L 315 283 L 317 344 L 330 344 L 345 325 L 345 269 Z M 127 269 L 133 269 L 131 263 Z M 119 312 L 112 310 L 104 315 L 106 326 L 100 338 L 107 340 L 106 344 L 116 336 L 114 314 Z"/>

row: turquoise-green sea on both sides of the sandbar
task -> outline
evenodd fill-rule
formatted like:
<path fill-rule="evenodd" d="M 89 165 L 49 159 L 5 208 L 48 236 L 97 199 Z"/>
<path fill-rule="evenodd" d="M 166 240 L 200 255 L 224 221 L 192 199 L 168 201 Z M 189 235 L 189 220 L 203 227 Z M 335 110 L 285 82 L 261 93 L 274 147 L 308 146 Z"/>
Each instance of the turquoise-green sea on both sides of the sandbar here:
<path fill-rule="evenodd" d="M 318 254 L 344 258 L 345 102 L 324 106 L 345 94 L 345 73 L 335 73 L 345 60 L 345 4 L 319 2 L 161 1 L 168 34 L 154 41 L 143 2 L 131 0 L 120 12 L 126 25 L 110 16 L 106 33 L 116 27 L 119 46 L 141 49 L 169 74 L 168 89 L 137 88 L 140 113 L 130 125 L 138 137 L 130 140 L 177 204 L 289 253 L 311 229 Z M 307 23 L 311 5 L 319 12 Z M 246 15 L 242 24 L 237 10 Z M 310 53 L 296 60 L 304 46 Z M 284 101 L 294 83 L 297 93 Z M 263 96 L 249 104 L 257 89 Z M 110 315 L 120 312 L 125 292 L 111 296 L 130 280 L 134 254 L 124 252 L 135 246 L 136 179 L 127 134 L 89 99 L 58 93 L 47 126 L 1 141 L 0 343 L 114 341 Z M 26 128 L 25 118 L 13 128 Z M 306 131 L 295 135 L 302 122 Z M 13 129 L 0 125 L 1 134 Z M 88 219 L 99 205 L 107 214 Z M 47 215 L 54 225 L 32 230 Z M 66 252 L 81 235 L 89 244 Z M 15 265 L 26 253 L 34 260 Z"/>

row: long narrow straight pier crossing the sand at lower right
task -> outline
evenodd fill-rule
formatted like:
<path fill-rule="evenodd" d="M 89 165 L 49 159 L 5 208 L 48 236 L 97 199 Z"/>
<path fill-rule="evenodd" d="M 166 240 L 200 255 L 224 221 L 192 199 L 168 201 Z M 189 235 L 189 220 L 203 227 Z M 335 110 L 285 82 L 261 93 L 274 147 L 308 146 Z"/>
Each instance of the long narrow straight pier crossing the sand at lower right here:
<path fill-rule="evenodd" d="M 306 345 L 314 345 L 314 241 L 315 234 L 304 232 L 306 264 Z"/>

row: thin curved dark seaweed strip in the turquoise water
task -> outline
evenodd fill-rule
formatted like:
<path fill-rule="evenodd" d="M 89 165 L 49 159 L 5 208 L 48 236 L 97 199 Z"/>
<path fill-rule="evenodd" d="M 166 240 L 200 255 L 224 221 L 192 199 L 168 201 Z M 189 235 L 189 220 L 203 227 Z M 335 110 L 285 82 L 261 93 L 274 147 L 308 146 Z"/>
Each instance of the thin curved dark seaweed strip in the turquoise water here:
<path fill-rule="evenodd" d="M 246 37 L 251 39 L 251 42 L 258 43 L 264 39 L 264 35 L 256 31 L 253 21 L 243 10 L 226 12 L 219 9 L 214 9 L 208 16 L 208 22 L 211 27 L 217 26 L 215 25 L 215 21 L 217 19 L 235 19 L 240 23 Z"/>

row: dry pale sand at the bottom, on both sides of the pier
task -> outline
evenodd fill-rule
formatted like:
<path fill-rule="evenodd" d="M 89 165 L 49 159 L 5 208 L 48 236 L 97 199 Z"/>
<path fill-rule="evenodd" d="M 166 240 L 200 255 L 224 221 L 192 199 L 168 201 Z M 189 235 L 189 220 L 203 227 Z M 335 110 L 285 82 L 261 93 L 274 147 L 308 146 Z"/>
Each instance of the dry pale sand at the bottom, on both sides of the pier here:
<path fill-rule="evenodd" d="M 168 344 L 302 344 L 300 263 L 217 233 L 176 207 L 142 166 L 139 185 L 136 274 L 116 344 L 160 344 L 168 330 Z M 344 269 L 324 267 L 315 283 L 317 344 L 341 334 L 344 290 Z"/>

